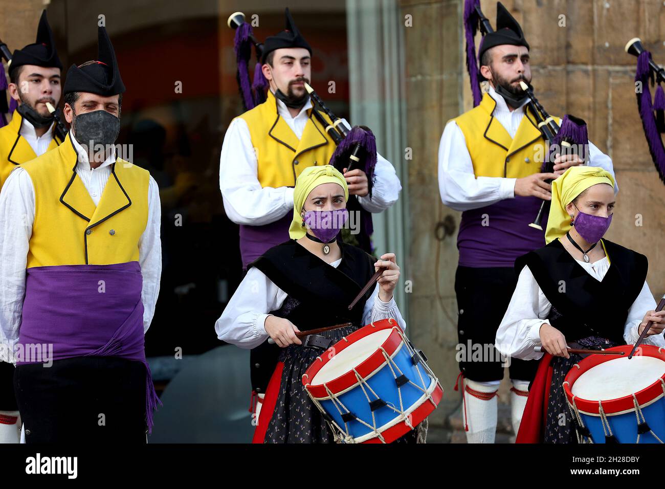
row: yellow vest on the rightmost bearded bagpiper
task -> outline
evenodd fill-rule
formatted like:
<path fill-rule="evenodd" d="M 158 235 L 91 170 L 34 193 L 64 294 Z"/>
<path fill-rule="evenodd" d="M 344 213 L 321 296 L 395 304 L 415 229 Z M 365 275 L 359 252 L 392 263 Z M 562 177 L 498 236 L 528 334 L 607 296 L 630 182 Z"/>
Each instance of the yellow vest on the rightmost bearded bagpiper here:
<path fill-rule="evenodd" d="M 485 93 L 476 107 L 454 119 L 464 134 L 475 176 L 524 178 L 539 173 L 545 157 L 545 140 L 531 110 L 525 112 L 515 137 L 511 138 L 493 117 L 495 108 L 495 100 Z M 561 120 L 556 117 L 555 120 L 561 124 Z"/>

